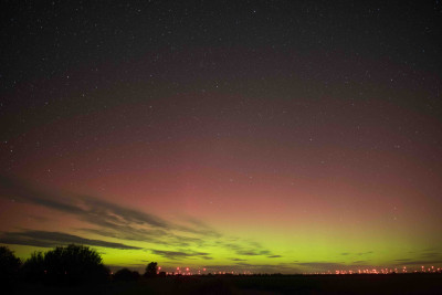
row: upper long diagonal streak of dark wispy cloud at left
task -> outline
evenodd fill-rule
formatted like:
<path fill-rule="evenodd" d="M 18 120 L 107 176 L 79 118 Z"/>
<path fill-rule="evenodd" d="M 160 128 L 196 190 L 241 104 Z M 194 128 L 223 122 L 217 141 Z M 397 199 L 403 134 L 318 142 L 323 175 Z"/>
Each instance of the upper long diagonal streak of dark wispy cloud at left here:
<path fill-rule="evenodd" d="M 150 241 L 154 243 L 173 243 L 186 246 L 201 242 L 198 238 L 186 234 L 219 234 L 203 222 L 192 221 L 191 226 L 167 222 L 161 218 L 139 210 L 110 203 L 90 196 L 55 193 L 34 188 L 25 181 L 0 176 L 0 197 L 13 198 L 14 201 L 33 203 L 76 217 L 93 228 L 84 232 L 122 240 Z M 177 233 L 178 232 L 178 233 Z"/>

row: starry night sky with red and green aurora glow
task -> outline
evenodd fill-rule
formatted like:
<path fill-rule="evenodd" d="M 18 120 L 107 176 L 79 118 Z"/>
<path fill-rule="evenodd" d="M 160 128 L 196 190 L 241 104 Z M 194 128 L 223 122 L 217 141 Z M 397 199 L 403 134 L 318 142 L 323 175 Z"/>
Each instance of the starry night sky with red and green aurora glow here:
<path fill-rule="evenodd" d="M 0 243 L 441 266 L 442 3 L 386 2 L 2 1 Z"/>

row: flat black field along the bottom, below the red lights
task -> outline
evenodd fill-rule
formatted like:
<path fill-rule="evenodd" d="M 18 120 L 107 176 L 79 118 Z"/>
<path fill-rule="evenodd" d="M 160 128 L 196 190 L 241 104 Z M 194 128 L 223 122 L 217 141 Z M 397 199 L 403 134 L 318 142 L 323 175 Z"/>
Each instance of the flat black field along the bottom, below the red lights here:
<path fill-rule="evenodd" d="M 77 287 L 19 285 L 12 294 L 442 294 L 442 275 L 181 276 Z"/>

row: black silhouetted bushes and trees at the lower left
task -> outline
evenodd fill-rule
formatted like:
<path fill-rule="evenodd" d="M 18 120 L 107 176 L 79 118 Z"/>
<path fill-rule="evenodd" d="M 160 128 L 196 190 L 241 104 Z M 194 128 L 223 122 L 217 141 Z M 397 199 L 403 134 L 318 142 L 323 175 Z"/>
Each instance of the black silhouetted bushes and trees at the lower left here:
<path fill-rule="evenodd" d="M 157 275 L 157 263 L 146 266 L 146 277 Z M 96 284 L 106 281 L 135 281 L 138 272 L 123 268 L 112 275 L 103 264 L 102 256 L 95 250 L 71 244 L 56 246 L 48 252 L 34 252 L 22 262 L 7 246 L 0 246 L 0 282 L 14 284 L 20 282 L 48 285 Z"/>

